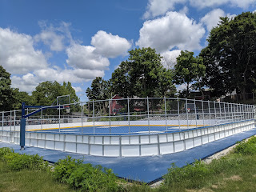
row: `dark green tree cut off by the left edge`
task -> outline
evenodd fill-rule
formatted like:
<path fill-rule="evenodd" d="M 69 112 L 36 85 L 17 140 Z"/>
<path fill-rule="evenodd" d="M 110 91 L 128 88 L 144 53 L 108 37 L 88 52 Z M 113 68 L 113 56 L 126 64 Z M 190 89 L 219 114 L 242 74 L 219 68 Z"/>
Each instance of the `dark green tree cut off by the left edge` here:
<path fill-rule="evenodd" d="M 10 87 L 10 73 L 0 66 L 0 110 L 12 110 L 14 90 Z"/>

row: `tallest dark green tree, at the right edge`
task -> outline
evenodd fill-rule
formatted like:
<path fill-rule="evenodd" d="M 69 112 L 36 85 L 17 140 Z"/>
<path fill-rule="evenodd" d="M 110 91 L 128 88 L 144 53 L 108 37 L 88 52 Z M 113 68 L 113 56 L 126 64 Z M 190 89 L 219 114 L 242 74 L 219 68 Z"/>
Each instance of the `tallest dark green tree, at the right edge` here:
<path fill-rule="evenodd" d="M 221 18 L 210 31 L 208 46 L 201 51 L 206 64 L 206 83 L 218 96 L 233 90 L 252 92 L 256 71 L 256 13 Z"/>

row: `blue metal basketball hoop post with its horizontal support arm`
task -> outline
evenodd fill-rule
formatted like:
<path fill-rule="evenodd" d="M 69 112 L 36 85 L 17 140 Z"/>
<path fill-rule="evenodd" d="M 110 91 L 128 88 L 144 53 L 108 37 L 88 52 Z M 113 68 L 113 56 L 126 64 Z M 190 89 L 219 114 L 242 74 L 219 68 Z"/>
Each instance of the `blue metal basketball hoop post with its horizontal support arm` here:
<path fill-rule="evenodd" d="M 31 112 L 30 114 L 25 114 L 26 108 L 40 108 L 38 110 L 35 110 Z M 26 138 L 26 118 L 30 117 L 33 114 L 37 114 L 41 110 L 46 110 L 49 108 L 64 108 L 64 106 L 26 106 L 25 102 L 22 102 L 22 119 L 20 123 L 20 146 L 21 150 L 24 150 L 25 146 L 25 138 Z"/>

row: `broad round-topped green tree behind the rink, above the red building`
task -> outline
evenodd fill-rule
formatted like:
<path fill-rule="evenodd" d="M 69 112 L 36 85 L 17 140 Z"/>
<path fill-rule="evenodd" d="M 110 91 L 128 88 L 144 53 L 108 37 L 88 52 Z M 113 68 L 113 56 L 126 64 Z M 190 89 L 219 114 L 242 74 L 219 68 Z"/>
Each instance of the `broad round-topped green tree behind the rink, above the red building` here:
<path fill-rule="evenodd" d="M 130 50 L 130 58 L 121 62 L 110 79 L 114 94 L 122 97 L 163 97 L 176 92 L 172 70 L 161 64 L 160 54 L 154 49 Z"/>

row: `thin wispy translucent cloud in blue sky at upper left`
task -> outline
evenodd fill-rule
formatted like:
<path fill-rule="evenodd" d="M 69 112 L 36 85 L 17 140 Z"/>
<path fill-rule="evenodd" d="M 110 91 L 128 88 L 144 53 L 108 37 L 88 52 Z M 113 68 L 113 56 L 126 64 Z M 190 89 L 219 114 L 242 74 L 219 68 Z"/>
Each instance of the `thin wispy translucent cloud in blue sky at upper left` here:
<path fill-rule="evenodd" d="M 42 30 L 41 34 L 37 34 L 34 39 L 36 42 L 42 41 L 44 44 L 50 46 L 50 50 L 61 51 L 64 50 L 63 35 L 58 35 L 51 30 Z"/>

